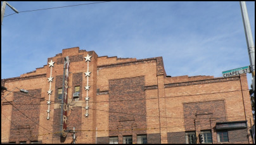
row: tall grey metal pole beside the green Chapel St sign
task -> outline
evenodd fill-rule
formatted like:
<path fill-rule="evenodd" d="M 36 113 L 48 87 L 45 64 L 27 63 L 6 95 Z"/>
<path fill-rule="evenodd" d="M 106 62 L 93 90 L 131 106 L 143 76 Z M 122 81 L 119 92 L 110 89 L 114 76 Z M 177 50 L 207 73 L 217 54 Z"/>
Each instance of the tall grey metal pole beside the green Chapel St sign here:
<path fill-rule="evenodd" d="M 253 44 L 252 30 L 250 27 L 249 17 L 246 9 L 245 1 L 240 1 L 241 13 L 243 17 L 243 27 L 245 28 L 245 37 L 250 58 L 250 68 L 252 72 L 252 89 L 255 92 L 255 47 Z"/>

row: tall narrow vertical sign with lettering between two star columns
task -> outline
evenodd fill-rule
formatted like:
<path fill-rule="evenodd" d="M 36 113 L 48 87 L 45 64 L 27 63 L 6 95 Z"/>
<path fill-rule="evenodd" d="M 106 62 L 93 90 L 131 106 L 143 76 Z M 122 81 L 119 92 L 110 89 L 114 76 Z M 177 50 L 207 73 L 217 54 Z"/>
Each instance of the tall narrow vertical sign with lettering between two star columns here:
<path fill-rule="evenodd" d="M 61 137 L 67 136 L 67 104 L 68 104 L 68 68 L 69 58 L 66 56 L 63 68 L 63 87 L 61 101 Z"/>

